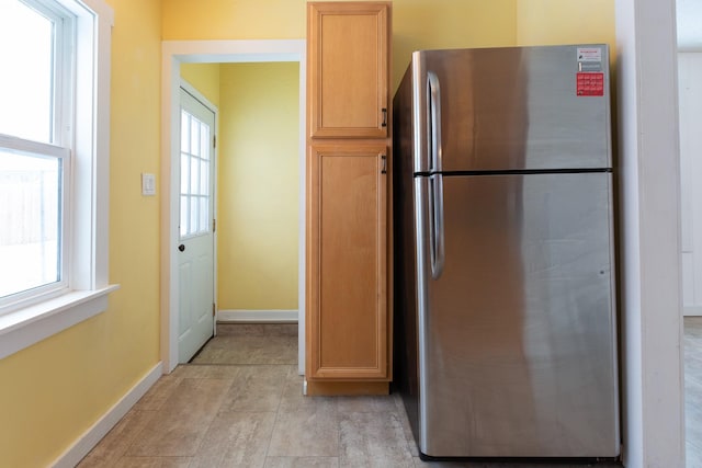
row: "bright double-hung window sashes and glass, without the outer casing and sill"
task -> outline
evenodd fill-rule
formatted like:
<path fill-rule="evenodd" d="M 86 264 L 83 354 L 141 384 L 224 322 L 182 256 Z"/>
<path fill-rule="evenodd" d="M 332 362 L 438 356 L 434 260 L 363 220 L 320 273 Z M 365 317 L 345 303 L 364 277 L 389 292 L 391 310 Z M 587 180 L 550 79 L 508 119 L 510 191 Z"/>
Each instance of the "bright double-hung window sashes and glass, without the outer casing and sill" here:
<path fill-rule="evenodd" d="M 75 16 L 49 2 L 0 5 L 0 307 L 66 286 Z M 19 47 L 18 44 L 22 46 Z"/>

